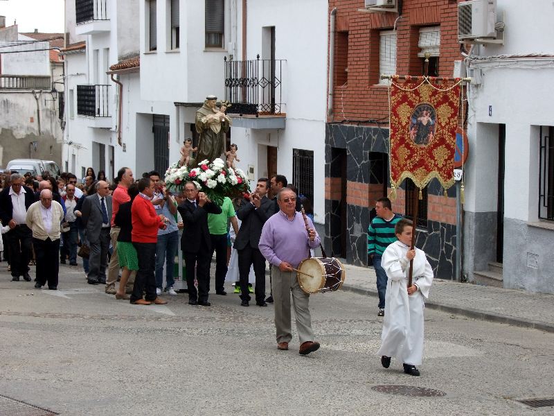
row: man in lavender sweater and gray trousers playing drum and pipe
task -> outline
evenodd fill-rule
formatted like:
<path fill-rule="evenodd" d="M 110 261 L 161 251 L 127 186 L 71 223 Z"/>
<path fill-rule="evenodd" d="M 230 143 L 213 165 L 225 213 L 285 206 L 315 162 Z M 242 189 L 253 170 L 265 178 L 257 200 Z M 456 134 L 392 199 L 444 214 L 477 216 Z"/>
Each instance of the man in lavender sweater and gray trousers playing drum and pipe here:
<path fill-rule="evenodd" d="M 300 354 L 310 354 L 319 349 L 314 343 L 312 318 L 308 302 L 310 294 L 298 284 L 293 268 L 310 255 L 310 248 L 319 246 L 319 236 L 310 218 L 307 218 L 309 232 L 306 231 L 301 213 L 296 212 L 296 194 L 289 188 L 277 193 L 279 212 L 266 221 L 258 247 L 263 256 L 274 265 L 273 296 L 275 304 L 275 327 L 277 349 L 289 349 L 292 340 L 290 293 L 296 315 L 296 329 L 300 338 Z"/>

